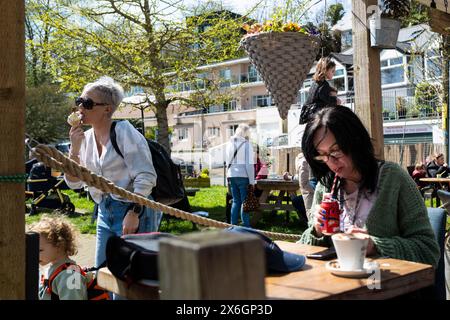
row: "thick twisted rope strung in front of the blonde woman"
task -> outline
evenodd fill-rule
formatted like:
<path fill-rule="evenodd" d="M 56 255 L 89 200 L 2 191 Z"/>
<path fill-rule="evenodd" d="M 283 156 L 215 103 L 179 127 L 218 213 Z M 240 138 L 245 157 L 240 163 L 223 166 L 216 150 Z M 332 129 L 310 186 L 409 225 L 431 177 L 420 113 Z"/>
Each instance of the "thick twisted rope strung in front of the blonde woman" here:
<path fill-rule="evenodd" d="M 78 179 L 85 182 L 89 187 L 95 187 L 106 193 L 113 193 L 124 199 L 128 199 L 134 203 L 139 203 L 140 205 L 150 207 L 157 211 L 162 211 L 164 213 L 170 214 L 177 218 L 192 221 L 194 223 L 201 224 L 204 226 L 216 227 L 216 228 L 228 228 L 228 227 L 232 226 L 231 224 L 228 224 L 225 222 L 220 222 L 220 221 L 216 221 L 213 219 L 200 217 L 198 215 L 195 215 L 195 214 L 192 214 L 192 213 L 189 213 L 186 211 L 182 211 L 182 210 L 179 210 L 176 208 L 166 206 L 162 203 L 152 201 L 143 196 L 137 195 L 137 194 L 127 191 L 123 188 L 117 187 L 110 180 L 108 180 L 102 176 L 98 176 L 95 173 L 90 172 L 88 169 L 80 166 L 75 161 L 67 158 L 60 151 L 58 151 L 57 149 L 55 149 L 53 147 L 40 144 L 40 145 L 36 146 L 35 148 L 33 148 L 32 153 L 39 161 L 43 162 L 46 166 L 56 169 L 58 171 L 65 172 L 66 174 L 69 174 L 71 176 L 77 177 Z M 267 237 L 272 238 L 274 240 L 298 240 L 298 239 L 300 239 L 299 235 L 284 234 L 284 233 L 278 233 L 278 232 L 269 232 L 269 231 L 264 231 L 264 230 L 256 230 L 256 231 L 261 232 L 264 235 L 266 235 Z"/>

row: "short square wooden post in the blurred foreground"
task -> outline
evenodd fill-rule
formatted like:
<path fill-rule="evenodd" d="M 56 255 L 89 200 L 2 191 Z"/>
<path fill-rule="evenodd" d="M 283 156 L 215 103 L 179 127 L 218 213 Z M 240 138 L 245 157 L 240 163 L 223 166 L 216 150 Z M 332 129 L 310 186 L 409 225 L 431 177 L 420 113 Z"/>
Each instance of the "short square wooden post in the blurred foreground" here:
<path fill-rule="evenodd" d="M 224 231 L 163 238 L 161 299 L 265 299 L 263 245 L 254 235 Z"/>

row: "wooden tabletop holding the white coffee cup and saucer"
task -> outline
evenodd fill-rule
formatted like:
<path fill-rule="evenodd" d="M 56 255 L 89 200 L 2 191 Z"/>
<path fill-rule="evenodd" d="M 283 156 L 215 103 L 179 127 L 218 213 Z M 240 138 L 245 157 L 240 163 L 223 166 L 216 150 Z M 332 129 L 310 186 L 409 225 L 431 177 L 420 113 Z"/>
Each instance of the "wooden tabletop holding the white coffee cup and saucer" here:
<path fill-rule="evenodd" d="M 323 250 L 285 241 L 276 241 L 283 249 L 298 254 Z M 302 270 L 266 277 L 268 299 L 389 299 L 404 295 L 434 283 L 434 269 L 431 265 L 404 260 L 380 258 L 380 289 L 367 288 L 366 278 L 349 279 L 331 274 L 326 261 L 308 259 Z M 369 275 L 368 275 L 369 276 Z M 372 283 L 372 282 L 371 282 Z M 158 283 L 141 282 L 131 287 L 116 279 L 108 269 L 99 271 L 98 284 L 103 288 L 129 299 L 158 299 Z"/>

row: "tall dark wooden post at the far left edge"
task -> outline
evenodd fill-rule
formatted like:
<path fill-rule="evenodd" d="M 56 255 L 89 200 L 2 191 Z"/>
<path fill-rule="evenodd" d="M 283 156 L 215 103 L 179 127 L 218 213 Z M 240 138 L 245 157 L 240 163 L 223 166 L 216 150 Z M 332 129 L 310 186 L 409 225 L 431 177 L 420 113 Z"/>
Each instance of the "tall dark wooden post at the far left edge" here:
<path fill-rule="evenodd" d="M 0 1 L 0 175 L 23 174 L 25 122 L 25 6 Z M 0 300 L 25 298 L 23 183 L 0 182 Z M 39 279 L 36 279 L 38 281 Z"/>

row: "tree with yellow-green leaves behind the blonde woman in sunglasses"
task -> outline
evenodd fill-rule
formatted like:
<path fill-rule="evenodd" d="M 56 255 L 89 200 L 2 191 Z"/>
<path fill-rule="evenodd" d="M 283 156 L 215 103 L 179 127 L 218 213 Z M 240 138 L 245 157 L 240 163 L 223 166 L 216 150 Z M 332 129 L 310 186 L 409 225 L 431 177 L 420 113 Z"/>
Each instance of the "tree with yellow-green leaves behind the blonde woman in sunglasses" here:
<path fill-rule="evenodd" d="M 179 1 L 56 1 L 41 20 L 55 28 L 51 41 L 55 75 L 63 88 L 80 91 L 95 77 L 108 74 L 124 84 L 142 87 L 158 123 L 158 142 L 170 151 L 167 107 L 183 99 L 167 87 L 190 81 L 206 63 L 239 56 L 242 20 L 224 13 L 174 21 Z M 210 27 L 199 30 L 208 20 Z"/>

